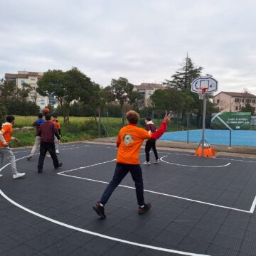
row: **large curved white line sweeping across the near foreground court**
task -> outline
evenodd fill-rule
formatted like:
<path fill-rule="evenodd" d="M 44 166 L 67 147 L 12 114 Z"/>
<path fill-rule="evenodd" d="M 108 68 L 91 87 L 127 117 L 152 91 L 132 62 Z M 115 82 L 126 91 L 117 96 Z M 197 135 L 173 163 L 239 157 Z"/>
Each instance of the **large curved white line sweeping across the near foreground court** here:
<path fill-rule="evenodd" d="M 100 233 L 95 233 L 95 232 L 92 232 L 90 230 L 85 230 L 83 228 L 78 228 L 78 227 L 75 227 L 73 225 L 69 225 L 69 224 L 60 222 L 58 220 L 54 220 L 53 218 L 48 218 L 45 215 L 42 215 L 40 213 L 36 213 L 33 210 L 30 210 L 30 209 L 28 209 L 28 208 L 26 208 L 24 206 L 21 206 L 19 203 L 16 203 L 11 198 L 6 196 L 6 194 L 3 191 L 1 191 L 1 189 L 0 189 L 0 194 L 7 201 L 12 203 L 14 206 L 17 206 L 18 208 L 21 208 L 22 210 L 25 210 L 27 213 L 31 213 L 33 215 L 36 215 L 39 218 L 43 218 L 44 220 L 48 220 L 51 223 L 55 223 L 57 225 L 61 225 L 61 226 L 65 227 L 65 228 L 70 228 L 72 230 L 77 230 L 77 231 L 82 232 L 82 233 L 86 233 L 86 234 L 89 234 L 89 235 L 95 235 L 97 237 L 105 238 L 105 239 L 116 241 L 116 242 L 123 242 L 123 243 L 128 244 L 128 245 L 135 245 L 135 246 L 138 246 L 138 247 L 144 247 L 144 248 L 152 249 L 152 250 L 159 250 L 159 251 L 162 251 L 162 252 L 172 252 L 172 253 L 176 253 L 178 255 L 188 255 L 188 256 L 209 256 L 209 255 L 202 255 L 202 254 L 193 253 L 193 252 L 182 252 L 182 251 L 172 250 L 172 249 L 163 248 L 163 247 L 157 247 L 157 246 L 152 246 L 152 245 L 145 245 L 145 244 L 142 244 L 142 243 L 139 243 L 139 242 L 132 242 L 132 241 L 129 241 L 129 240 L 123 240 L 123 239 L 119 239 L 119 238 L 114 238 L 114 237 L 111 237 L 109 235 L 102 235 Z"/>

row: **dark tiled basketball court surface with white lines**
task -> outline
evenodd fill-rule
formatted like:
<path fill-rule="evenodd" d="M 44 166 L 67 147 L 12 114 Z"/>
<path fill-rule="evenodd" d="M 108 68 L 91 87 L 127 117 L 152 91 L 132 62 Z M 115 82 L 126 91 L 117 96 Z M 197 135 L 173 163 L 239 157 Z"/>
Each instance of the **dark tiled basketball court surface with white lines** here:
<path fill-rule="evenodd" d="M 26 177 L 13 180 L 1 166 L 1 256 L 256 255 L 255 159 L 159 149 L 160 163 L 142 166 L 151 210 L 138 215 L 128 174 L 101 220 L 92 205 L 114 173 L 114 146 L 63 144 L 63 166 L 55 171 L 46 159 L 43 174 L 38 155 L 27 161 L 30 149 L 14 152 Z"/>

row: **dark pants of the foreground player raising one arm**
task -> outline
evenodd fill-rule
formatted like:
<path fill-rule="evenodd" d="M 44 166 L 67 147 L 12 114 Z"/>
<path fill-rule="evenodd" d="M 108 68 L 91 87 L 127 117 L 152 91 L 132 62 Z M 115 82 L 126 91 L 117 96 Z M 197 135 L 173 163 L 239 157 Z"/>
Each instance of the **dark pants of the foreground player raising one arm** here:
<path fill-rule="evenodd" d="M 142 168 L 139 164 L 117 164 L 114 171 L 114 176 L 112 181 L 107 185 L 102 198 L 100 198 L 100 203 L 105 205 L 110 199 L 110 196 L 114 192 L 114 189 L 117 188 L 122 179 L 128 174 L 131 173 L 132 179 L 135 182 L 136 196 L 139 206 L 144 205 L 144 188 L 143 188 L 143 178 L 142 178 Z"/>

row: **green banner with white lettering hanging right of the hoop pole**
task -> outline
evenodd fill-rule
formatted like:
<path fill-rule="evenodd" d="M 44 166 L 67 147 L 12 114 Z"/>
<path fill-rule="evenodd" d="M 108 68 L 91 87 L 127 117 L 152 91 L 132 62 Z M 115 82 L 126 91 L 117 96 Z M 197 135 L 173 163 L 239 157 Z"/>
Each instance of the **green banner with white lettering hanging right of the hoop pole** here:
<path fill-rule="evenodd" d="M 250 129 L 250 112 L 220 112 L 212 114 L 210 129 Z"/>

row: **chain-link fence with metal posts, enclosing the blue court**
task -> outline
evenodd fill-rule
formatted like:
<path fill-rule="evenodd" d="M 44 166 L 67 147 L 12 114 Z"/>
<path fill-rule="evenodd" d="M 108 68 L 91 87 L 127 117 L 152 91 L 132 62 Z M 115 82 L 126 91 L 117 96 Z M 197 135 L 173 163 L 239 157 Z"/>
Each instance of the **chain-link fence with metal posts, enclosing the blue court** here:
<path fill-rule="evenodd" d="M 125 125 L 125 113 L 119 113 L 118 117 L 113 117 L 109 112 L 100 114 L 98 122 L 98 137 L 112 137 L 117 135 L 117 130 Z M 99 117 L 97 115 L 97 118 Z M 156 127 L 159 127 L 161 120 L 166 114 L 165 110 L 147 110 L 140 112 L 140 127 L 145 127 L 146 117 L 153 119 Z M 117 115 L 117 114 L 115 114 Z M 225 146 L 256 146 L 256 119 L 252 119 L 250 129 L 211 129 L 212 117 L 206 116 L 205 138 L 209 144 Z M 199 143 L 202 139 L 203 115 L 183 113 L 172 114 L 166 133 L 161 137 L 161 141 Z"/>

